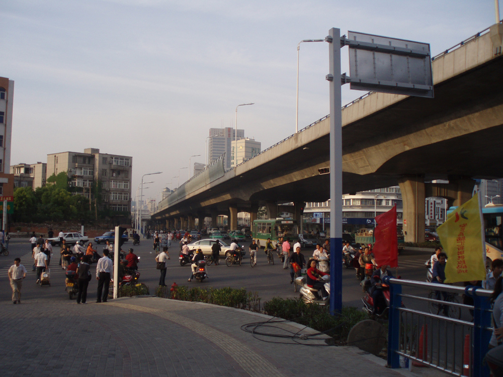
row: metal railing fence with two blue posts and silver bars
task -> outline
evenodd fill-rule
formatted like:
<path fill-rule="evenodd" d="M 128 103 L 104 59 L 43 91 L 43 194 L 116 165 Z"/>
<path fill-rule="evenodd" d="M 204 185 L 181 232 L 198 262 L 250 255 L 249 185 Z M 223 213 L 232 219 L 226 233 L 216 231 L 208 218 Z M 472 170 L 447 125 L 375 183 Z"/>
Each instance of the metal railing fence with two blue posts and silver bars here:
<path fill-rule="evenodd" d="M 406 358 L 452 375 L 489 376 L 483 358 L 492 333 L 491 291 L 388 276 L 383 281 L 390 287 L 388 366 L 399 368 L 400 358 Z M 414 287 L 429 295 L 402 294 L 402 286 Z M 434 298 L 436 291 L 445 294 L 443 300 Z M 463 294 L 473 299 L 473 306 L 459 303 L 457 297 Z M 427 303 L 430 312 L 405 308 L 402 299 Z M 441 315 L 442 305 L 448 308 L 448 316 Z M 460 319 L 466 311 L 473 313 L 473 322 Z"/>

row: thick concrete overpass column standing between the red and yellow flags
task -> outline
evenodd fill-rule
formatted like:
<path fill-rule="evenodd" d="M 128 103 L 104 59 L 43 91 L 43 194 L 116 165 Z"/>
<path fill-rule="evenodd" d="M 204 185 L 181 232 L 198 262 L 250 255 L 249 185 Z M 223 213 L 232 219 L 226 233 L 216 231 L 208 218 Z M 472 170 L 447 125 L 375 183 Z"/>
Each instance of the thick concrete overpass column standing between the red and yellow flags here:
<path fill-rule="evenodd" d="M 422 175 L 398 179 L 403 203 L 405 242 L 425 242 L 425 179 Z"/>

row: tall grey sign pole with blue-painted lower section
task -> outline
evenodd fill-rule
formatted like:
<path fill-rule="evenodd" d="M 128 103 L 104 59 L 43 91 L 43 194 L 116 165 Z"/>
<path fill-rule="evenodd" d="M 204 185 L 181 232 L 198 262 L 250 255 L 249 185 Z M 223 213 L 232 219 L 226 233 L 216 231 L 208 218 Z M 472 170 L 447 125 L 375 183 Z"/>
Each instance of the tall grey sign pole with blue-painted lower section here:
<path fill-rule="evenodd" d="M 328 31 L 328 65 L 330 82 L 330 313 L 343 307 L 342 257 L 342 99 L 341 99 L 341 30 Z"/>

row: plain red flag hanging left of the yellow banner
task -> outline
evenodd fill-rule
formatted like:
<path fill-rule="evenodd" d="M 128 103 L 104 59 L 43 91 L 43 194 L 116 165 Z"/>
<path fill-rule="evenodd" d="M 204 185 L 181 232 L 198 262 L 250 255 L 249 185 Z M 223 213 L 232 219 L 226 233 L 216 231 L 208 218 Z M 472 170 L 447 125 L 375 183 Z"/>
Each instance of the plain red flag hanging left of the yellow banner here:
<path fill-rule="evenodd" d="M 396 236 L 396 205 L 376 217 L 375 243 L 372 252 L 378 266 L 398 267 L 398 238 Z"/>

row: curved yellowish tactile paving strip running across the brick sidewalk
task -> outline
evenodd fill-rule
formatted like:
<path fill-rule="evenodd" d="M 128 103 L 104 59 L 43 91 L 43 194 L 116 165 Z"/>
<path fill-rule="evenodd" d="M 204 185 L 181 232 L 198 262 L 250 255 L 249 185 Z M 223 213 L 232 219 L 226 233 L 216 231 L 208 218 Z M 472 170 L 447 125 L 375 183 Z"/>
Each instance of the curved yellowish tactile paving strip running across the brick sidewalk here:
<path fill-rule="evenodd" d="M 233 337 L 226 335 L 221 331 L 209 327 L 206 324 L 180 316 L 178 314 L 175 314 L 174 312 L 168 312 L 167 310 L 146 308 L 122 303 L 110 303 L 110 305 L 144 313 L 151 313 L 187 327 L 188 329 L 198 333 L 200 336 L 205 337 L 210 342 L 215 343 L 225 349 L 225 352 L 252 377 L 284 376 L 284 374 L 281 373 L 277 367 L 275 367 L 267 360 L 264 360 L 264 358 L 261 357 L 257 352 L 248 348 L 237 339 L 234 339 Z M 257 362 L 258 360 L 260 360 L 260 362 Z"/>

